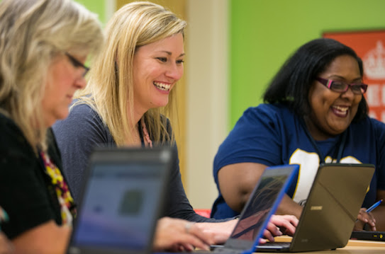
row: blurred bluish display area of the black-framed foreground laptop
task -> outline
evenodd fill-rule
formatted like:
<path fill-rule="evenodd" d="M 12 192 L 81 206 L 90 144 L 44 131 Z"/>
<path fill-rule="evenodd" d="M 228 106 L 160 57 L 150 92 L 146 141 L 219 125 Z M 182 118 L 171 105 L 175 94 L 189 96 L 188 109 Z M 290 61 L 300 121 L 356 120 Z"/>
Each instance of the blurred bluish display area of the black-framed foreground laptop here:
<path fill-rule="evenodd" d="M 143 249 L 158 207 L 159 164 L 96 165 L 74 230 L 75 246 Z"/>

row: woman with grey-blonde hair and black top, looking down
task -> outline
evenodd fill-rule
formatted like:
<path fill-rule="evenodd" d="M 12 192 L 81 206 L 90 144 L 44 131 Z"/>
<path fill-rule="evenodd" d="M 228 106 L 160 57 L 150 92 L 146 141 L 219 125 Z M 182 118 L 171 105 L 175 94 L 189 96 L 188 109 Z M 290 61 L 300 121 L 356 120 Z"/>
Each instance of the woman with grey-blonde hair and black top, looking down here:
<path fill-rule="evenodd" d="M 0 3 L 1 230 L 16 253 L 65 251 L 76 209 L 50 126 L 103 42 L 96 15 L 71 0 Z"/>

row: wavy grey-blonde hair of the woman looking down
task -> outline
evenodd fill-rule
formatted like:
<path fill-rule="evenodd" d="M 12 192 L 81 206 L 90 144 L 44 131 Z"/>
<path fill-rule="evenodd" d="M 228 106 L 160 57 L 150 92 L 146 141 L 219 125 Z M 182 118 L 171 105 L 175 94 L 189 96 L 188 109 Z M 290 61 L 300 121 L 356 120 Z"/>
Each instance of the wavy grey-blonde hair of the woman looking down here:
<path fill-rule="evenodd" d="M 48 69 L 66 51 L 87 55 L 104 42 L 97 16 L 71 0 L 0 3 L 0 109 L 30 145 L 45 149 L 42 100 Z"/>

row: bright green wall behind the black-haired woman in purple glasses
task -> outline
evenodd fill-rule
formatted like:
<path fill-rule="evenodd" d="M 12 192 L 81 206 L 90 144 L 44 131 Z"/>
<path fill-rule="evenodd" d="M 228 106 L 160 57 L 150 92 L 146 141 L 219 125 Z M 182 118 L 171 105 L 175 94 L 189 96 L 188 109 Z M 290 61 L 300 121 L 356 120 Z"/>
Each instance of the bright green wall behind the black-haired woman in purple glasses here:
<path fill-rule="evenodd" d="M 229 0 L 229 130 L 284 61 L 325 31 L 385 28 L 384 0 Z"/>

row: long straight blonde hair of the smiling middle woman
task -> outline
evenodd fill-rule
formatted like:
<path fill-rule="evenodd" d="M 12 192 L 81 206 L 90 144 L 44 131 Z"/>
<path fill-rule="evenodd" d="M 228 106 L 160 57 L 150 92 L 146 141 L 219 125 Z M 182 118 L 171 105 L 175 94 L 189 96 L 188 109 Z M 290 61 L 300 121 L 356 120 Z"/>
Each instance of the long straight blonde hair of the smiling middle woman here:
<path fill-rule="evenodd" d="M 78 103 L 87 103 L 99 113 L 118 146 L 133 139 L 130 128 L 136 124 L 133 122 L 135 50 L 177 33 L 184 35 L 185 27 L 186 22 L 171 11 L 145 1 L 126 4 L 108 21 L 104 50 L 95 59 L 87 88 L 79 91 L 77 98 L 80 98 Z M 169 115 L 175 93 L 173 88 L 167 107 L 152 108 L 143 115 L 155 142 L 174 142 L 174 137 L 167 134 L 167 123 L 161 113 Z"/>

